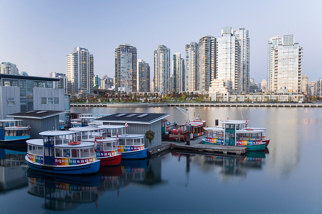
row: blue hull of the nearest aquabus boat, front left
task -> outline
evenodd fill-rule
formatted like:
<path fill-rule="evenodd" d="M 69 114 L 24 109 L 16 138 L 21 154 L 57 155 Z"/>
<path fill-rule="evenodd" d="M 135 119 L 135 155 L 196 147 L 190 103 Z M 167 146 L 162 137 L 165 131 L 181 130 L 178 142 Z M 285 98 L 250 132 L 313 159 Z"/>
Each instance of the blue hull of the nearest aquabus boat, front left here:
<path fill-rule="evenodd" d="M 99 171 L 99 160 L 94 162 L 90 162 L 88 164 L 82 165 L 71 165 L 71 166 L 52 166 L 52 165 L 41 165 L 31 162 L 27 155 L 25 157 L 27 165 L 29 168 L 41 172 L 47 173 L 56 173 L 56 174 L 73 174 L 73 175 L 81 175 L 81 174 L 94 174 Z"/>

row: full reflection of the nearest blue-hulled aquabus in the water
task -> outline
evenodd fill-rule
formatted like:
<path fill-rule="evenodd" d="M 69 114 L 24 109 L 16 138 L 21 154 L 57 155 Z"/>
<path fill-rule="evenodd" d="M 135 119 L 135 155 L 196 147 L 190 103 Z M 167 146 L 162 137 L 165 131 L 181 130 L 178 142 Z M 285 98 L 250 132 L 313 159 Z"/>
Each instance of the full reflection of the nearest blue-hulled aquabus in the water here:
<path fill-rule="evenodd" d="M 81 203 L 97 206 L 99 174 L 89 176 L 55 175 L 28 169 L 28 193 L 45 198 L 44 208 L 70 210 Z"/>

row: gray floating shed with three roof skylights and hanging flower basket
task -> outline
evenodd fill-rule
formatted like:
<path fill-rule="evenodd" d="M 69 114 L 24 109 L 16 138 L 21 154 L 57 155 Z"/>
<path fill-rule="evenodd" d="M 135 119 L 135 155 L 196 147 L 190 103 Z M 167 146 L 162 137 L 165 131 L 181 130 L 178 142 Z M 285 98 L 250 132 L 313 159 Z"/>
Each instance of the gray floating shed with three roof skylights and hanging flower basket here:
<path fill-rule="evenodd" d="M 101 121 L 104 125 L 124 125 L 126 121 L 128 134 L 145 134 L 146 131 L 152 130 L 155 135 L 151 145 L 147 138 L 144 138 L 144 145 L 146 148 L 153 148 L 161 145 L 161 119 L 169 115 L 169 113 L 116 113 L 95 121 Z"/>

